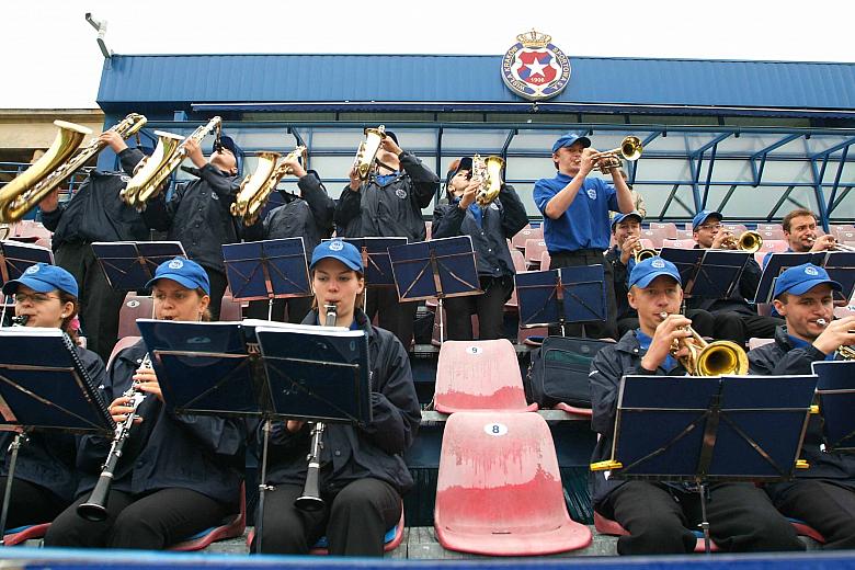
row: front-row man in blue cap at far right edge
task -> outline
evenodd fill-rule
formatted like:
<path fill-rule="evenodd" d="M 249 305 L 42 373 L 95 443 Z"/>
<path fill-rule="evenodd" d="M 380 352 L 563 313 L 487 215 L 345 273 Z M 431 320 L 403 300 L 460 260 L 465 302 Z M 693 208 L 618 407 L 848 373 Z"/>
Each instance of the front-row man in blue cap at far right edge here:
<path fill-rule="evenodd" d="M 840 283 L 817 265 L 783 272 L 773 303 L 786 324 L 775 331 L 775 342 L 749 352 L 751 374 L 812 374 L 812 363 L 834 360 L 837 349 L 855 345 L 855 317 L 832 320 L 834 290 L 841 290 Z M 819 531 L 824 548 L 855 548 L 855 457 L 824 448 L 821 422 L 811 415 L 801 446 L 810 468 L 765 489 L 782 513 Z"/>

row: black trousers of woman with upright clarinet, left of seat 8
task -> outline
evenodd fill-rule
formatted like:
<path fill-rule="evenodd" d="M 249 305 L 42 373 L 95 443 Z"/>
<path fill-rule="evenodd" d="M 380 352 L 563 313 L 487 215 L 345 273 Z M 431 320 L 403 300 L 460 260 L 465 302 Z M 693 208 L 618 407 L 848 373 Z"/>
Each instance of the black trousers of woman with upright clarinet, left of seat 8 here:
<path fill-rule="evenodd" d="M 264 499 L 262 551 L 305 555 L 321 536 L 335 556 L 383 556 L 384 535 L 401 516 L 401 498 L 389 483 L 365 478 L 334 495 L 323 495 L 324 508 L 309 513 L 294 506 L 303 487 L 276 486 Z M 250 546 L 255 552 L 258 536 Z"/>

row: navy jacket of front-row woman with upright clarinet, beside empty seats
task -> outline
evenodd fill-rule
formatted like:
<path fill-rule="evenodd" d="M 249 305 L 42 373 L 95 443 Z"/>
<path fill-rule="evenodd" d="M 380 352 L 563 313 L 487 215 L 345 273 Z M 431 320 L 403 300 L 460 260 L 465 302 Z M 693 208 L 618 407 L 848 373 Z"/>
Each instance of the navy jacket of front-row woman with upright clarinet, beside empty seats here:
<path fill-rule="evenodd" d="M 304 324 L 317 324 L 310 312 Z M 407 351 L 389 331 L 372 327 L 357 309 L 356 322 L 368 335 L 372 381 L 372 423 L 364 428 L 329 424 L 323 432 L 321 491 L 341 490 L 365 477 L 388 482 L 403 493 L 412 477 L 403 453 L 412 444 L 421 422 L 421 409 Z M 273 424 L 267 481 L 273 485 L 304 485 L 310 426 L 290 433 L 283 422 Z"/>

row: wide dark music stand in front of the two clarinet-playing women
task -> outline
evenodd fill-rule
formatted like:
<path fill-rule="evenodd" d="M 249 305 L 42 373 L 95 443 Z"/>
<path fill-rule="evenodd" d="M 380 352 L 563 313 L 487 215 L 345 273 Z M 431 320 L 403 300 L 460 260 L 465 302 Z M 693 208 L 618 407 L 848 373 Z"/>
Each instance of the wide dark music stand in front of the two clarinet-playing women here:
<path fill-rule="evenodd" d="M 169 410 L 262 422 L 255 532 L 260 550 L 272 422 L 303 418 L 369 423 L 367 337 L 361 330 L 255 320 L 139 319 L 137 326 Z"/>

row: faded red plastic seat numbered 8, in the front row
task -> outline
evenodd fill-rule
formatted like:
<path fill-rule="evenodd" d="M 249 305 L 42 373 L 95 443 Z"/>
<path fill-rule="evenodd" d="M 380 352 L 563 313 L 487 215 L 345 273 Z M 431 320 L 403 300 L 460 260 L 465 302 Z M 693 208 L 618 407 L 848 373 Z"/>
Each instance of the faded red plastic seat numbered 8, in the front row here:
<path fill-rule="evenodd" d="M 584 548 L 567 513 L 549 428 L 536 413 L 460 412 L 440 454 L 434 529 L 449 550 L 535 556 Z"/>

